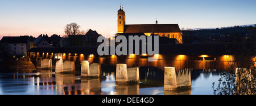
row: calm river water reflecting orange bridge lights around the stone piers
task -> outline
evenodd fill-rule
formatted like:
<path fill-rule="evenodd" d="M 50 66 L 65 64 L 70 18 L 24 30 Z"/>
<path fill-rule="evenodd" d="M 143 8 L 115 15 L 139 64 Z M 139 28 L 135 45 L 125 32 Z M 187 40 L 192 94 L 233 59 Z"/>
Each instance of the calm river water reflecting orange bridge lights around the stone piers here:
<path fill-rule="evenodd" d="M 221 70 L 191 70 L 191 89 L 164 91 L 164 72 L 154 67 L 140 68 L 139 85 L 115 85 L 115 70 L 104 71 L 97 79 L 80 78 L 80 73 L 61 74 L 55 70 L 1 70 L 0 95 L 64 95 L 64 87 L 75 86 L 77 95 L 212 95 L 212 83 Z"/>

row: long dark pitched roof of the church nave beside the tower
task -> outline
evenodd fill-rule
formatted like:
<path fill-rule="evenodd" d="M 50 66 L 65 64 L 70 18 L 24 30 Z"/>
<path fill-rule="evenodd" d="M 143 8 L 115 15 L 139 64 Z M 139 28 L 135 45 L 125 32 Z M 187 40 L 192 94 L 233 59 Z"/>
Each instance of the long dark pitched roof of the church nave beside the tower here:
<path fill-rule="evenodd" d="M 125 25 L 125 33 L 168 33 L 181 32 L 178 24 L 135 24 Z"/>

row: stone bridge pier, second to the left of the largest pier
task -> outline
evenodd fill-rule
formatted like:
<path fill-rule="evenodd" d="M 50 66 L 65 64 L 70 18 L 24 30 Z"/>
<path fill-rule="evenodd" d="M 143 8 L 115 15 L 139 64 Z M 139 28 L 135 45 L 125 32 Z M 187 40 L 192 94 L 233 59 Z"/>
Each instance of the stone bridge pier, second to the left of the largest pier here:
<path fill-rule="evenodd" d="M 81 77 L 85 77 L 85 78 L 101 77 L 101 64 L 93 63 L 89 65 L 89 61 L 81 61 Z"/>

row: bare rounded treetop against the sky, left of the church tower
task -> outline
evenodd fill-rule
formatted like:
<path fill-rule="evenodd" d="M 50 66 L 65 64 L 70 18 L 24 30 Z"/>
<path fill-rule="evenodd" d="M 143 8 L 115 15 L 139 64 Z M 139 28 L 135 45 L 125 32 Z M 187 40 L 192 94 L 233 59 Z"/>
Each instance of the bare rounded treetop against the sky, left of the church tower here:
<path fill-rule="evenodd" d="M 66 36 L 71 36 L 71 35 L 78 35 L 80 33 L 80 25 L 77 25 L 77 23 L 71 23 L 67 24 L 65 26 L 64 33 Z"/>

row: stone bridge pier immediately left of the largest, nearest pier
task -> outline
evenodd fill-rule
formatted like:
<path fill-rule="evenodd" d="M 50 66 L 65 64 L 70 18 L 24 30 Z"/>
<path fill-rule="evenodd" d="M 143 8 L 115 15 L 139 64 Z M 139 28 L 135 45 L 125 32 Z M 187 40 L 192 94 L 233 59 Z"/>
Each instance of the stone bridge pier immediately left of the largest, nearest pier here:
<path fill-rule="evenodd" d="M 128 68 L 126 64 L 117 64 L 115 83 L 139 83 L 139 68 Z"/>

